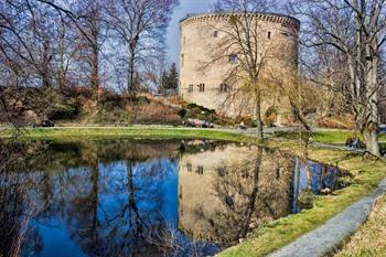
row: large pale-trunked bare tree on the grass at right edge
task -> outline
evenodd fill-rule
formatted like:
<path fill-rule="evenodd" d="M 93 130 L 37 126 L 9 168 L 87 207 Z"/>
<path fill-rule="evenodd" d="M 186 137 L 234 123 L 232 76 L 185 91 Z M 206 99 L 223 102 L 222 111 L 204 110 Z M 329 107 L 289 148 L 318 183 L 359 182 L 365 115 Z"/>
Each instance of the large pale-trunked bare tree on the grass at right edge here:
<path fill-rule="evenodd" d="M 303 21 L 303 44 L 329 49 L 344 56 L 342 73 L 350 85 L 342 90 L 355 116 L 368 152 L 380 156 L 378 146 L 379 54 L 386 42 L 384 0 L 300 0 L 291 11 Z M 333 82 L 336 83 L 336 82 Z M 337 82 L 339 83 L 339 82 Z M 332 83 L 323 82 L 333 87 Z"/>

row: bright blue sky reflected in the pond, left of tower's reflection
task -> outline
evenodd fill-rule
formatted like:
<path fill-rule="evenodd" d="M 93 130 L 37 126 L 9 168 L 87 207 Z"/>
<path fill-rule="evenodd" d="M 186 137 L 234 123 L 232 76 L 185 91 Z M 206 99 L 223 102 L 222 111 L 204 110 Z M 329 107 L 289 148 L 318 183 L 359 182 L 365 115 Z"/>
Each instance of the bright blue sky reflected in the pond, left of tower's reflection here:
<path fill-rule="evenodd" d="M 96 182 L 93 182 L 92 172 L 88 168 L 72 168 L 53 175 L 54 189 L 50 206 L 31 223 L 36 232 L 30 237 L 35 238 L 29 238 L 28 242 L 40 240 L 36 244 L 39 247 L 34 246 L 32 251 L 35 253 L 32 256 L 89 256 L 78 246 L 82 245 L 78 240 L 85 238 L 75 234 L 85 233 L 86 236 L 86 231 L 92 229 L 92 224 L 86 224 L 92 222 L 92 212 L 95 211 L 92 207 L 97 211 L 98 235 L 108 238 L 110 244 L 124 244 L 129 238 L 129 232 L 139 229 L 135 221 L 130 222 L 137 215 L 129 210 L 130 197 L 133 197 L 138 215 L 143 218 L 141 226 L 151 227 L 167 222 L 176 228 L 178 161 L 163 158 L 132 163 L 135 194 L 130 194 L 127 161 L 99 163 L 97 174 L 94 174 L 97 175 Z M 97 188 L 97 194 L 94 195 L 97 205 L 88 206 L 89 210 L 89 203 L 77 206 L 83 204 L 82 197 L 93 196 L 93 186 Z M 84 231 L 79 232 L 79 227 Z M 24 256 L 29 254 L 25 253 Z"/>

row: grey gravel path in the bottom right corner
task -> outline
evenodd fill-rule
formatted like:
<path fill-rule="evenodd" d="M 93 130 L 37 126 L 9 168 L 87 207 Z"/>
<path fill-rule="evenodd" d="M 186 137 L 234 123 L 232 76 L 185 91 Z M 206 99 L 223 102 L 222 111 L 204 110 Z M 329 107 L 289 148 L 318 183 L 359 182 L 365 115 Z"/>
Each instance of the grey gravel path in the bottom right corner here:
<path fill-rule="evenodd" d="M 380 182 L 371 196 L 366 196 L 349 206 L 324 225 L 275 251 L 270 257 L 319 257 L 333 251 L 366 222 L 375 201 L 385 192 L 386 179 Z"/>

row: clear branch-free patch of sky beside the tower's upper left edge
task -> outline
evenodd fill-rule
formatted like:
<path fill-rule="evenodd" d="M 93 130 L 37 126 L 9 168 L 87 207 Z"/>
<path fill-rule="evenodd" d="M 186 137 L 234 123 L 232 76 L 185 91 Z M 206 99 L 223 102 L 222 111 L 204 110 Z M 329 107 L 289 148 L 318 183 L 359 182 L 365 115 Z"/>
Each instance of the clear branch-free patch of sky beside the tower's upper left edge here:
<path fill-rule="evenodd" d="M 167 44 L 168 55 L 171 62 L 178 64 L 180 52 L 180 28 L 179 21 L 186 17 L 187 13 L 207 12 L 211 10 L 214 0 L 180 0 L 180 6 L 176 7 L 173 18 L 170 21 Z"/>

